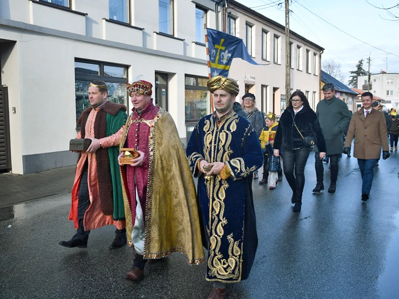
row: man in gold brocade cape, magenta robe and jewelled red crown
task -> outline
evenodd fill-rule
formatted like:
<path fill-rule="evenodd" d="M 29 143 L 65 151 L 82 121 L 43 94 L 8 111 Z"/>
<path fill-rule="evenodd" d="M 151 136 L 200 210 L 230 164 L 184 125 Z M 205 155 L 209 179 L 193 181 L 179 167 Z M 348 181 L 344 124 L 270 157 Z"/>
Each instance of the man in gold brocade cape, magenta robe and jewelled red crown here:
<path fill-rule="evenodd" d="M 152 84 L 127 85 L 133 110 L 120 148 L 140 156 L 121 165 L 126 229 L 134 248 L 133 267 L 124 279 L 144 278 L 147 259 L 183 253 L 189 264 L 203 263 L 196 191 L 187 158 L 171 115 L 154 106 Z"/>

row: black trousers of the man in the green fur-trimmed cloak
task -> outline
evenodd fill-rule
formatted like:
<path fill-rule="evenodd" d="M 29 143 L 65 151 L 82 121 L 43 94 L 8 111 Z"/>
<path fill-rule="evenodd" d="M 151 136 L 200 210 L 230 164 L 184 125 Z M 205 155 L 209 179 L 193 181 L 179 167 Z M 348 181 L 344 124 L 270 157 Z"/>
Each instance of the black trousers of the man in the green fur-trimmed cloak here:
<path fill-rule="evenodd" d="M 76 231 L 76 236 L 81 240 L 87 239 L 90 234 L 90 231 L 84 230 L 84 225 L 83 225 L 84 214 L 86 213 L 87 209 L 90 206 L 90 195 L 89 195 L 89 185 L 88 185 L 88 180 L 87 180 L 87 172 L 88 172 L 88 163 L 86 161 L 86 163 L 84 165 L 82 177 L 80 178 L 79 194 L 78 194 L 79 227 Z M 116 229 L 115 235 L 120 238 L 126 238 L 126 228 Z"/>

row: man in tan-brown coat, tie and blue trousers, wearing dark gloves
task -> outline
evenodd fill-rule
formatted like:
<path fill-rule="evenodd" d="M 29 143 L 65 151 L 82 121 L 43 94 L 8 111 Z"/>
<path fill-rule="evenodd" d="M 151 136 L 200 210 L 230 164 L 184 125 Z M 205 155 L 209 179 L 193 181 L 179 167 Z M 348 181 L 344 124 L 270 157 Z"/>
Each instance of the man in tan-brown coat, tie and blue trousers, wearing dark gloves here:
<path fill-rule="evenodd" d="M 362 200 L 369 199 L 371 184 L 374 177 L 374 165 L 381 155 L 383 147 L 383 159 L 390 156 L 387 124 L 384 113 L 373 109 L 373 94 L 362 94 L 363 107 L 353 114 L 349 124 L 348 135 L 345 141 L 344 153 L 351 149 L 352 139 L 355 137 L 353 156 L 358 158 L 360 173 L 362 174 Z"/>

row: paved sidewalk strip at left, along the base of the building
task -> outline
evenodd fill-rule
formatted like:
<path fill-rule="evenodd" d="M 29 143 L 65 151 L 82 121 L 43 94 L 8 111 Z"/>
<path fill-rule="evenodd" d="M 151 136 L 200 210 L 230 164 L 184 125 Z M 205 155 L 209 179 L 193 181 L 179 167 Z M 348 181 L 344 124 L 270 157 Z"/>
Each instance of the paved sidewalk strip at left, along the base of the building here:
<path fill-rule="evenodd" d="M 71 192 L 75 169 L 68 166 L 25 175 L 1 173 L 0 207 Z"/>

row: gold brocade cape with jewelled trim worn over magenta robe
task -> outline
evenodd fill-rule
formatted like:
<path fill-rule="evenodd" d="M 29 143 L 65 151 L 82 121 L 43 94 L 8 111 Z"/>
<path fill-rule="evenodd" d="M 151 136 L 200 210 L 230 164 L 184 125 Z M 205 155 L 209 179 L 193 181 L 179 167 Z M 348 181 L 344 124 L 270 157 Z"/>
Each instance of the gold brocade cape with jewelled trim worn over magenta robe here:
<path fill-rule="evenodd" d="M 121 148 L 132 122 L 129 116 Z M 147 122 L 150 136 L 146 210 L 143 211 L 144 259 L 159 259 L 180 252 L 189 264 L 203 263 L 196 189 L 175 122 L 163 109 Z M 134 223 L 123 175 L 122 188 L 127 238 L 131 241 Z"/>

